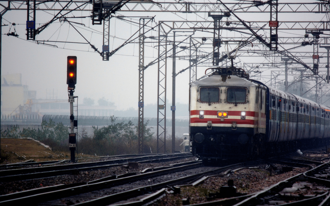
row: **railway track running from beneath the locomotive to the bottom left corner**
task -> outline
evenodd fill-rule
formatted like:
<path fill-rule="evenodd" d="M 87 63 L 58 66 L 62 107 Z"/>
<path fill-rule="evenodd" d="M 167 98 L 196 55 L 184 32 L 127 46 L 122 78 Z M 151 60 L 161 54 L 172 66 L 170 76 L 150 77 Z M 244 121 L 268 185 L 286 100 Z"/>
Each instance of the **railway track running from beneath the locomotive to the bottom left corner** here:
<path fill-rule="evenodd" d="M 229 168 L 242 166 L 243 164 L 239 163 L 220 168 L 205 168 L 202 167 L 201 161 L 185 162 L 171 165 L 171 168 L 154 168 L 150 172 L 146 169 L 144 173 L 138 175 L 124 174 L 116 177 L 102 178 L 88 183 L 80 183 L 78 185 L 59 185 L 2 195 L 0 196 L 0 204 L 15 205 L 29 202 L 32 205 L 102 205 L 102 202 L 106 202 L 108 205 L 144 195 L 137 200 L 137 203 L 134 203 L 139 205 L 140 203 L 142 204 L 161 196 L 166 191 L 163 188 L 202 181 L 200 179 L 203 179 L 205 175 L 219 173 Z M 199 168 L 199 171 L 190 171 L 188 174 L 193 174 L 187 175 L 187 171 L 193 168 Z M 157 179 L 160 176 L 161 178 Z M 153 192 L 155 193 L 149 196 Z"/>

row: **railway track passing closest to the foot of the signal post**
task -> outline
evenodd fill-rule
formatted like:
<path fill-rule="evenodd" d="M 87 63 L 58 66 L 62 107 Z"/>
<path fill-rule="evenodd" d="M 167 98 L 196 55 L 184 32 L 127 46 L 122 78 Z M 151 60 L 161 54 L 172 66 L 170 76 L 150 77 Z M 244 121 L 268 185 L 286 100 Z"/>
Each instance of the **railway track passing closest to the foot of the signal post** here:
<path fill-rule="evenodd" d="M 27 180 L 35 178 L 45 178 L 51 176 L 77 173 L 80 171 L 104 169 L 114 166 L 127 164 L 128 162 L 168 162 L 179 160 L 186 157 L 192 157 L 189 153 L 182 154 L 163 154 L 143 157 L 133 157 L 125 159 L 107 160 L 99 162 L 73 163 L 65 165 L 43 166 L 22 169 L 8 169 L 0 171 L 0 182 L 10 182 L 18 180 Z"/>

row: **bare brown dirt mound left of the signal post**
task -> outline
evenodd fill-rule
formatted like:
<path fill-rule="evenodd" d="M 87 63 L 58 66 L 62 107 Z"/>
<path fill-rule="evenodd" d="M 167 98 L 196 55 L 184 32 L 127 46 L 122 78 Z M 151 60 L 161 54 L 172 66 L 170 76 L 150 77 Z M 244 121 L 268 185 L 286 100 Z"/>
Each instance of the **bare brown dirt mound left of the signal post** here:
<path fill-rule="evenodd" d="M 54 153 L 50 148 L 31 138 L 1 138 L 1 150 L 10 155 L 2 164 L 24 162 L 33 159 L 35 162 L 70 159 L 66 154 Z"/>

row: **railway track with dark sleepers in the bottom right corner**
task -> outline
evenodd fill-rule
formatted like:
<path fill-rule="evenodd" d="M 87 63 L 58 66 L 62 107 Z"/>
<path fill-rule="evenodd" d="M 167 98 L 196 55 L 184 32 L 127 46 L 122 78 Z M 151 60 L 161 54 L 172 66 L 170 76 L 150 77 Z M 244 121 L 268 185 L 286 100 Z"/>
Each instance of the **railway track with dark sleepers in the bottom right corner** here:
<path fill-rule="evenodd" d="M 234 196 L 230 198 L 208 201 L 190 206 L 273 206 L 273 205 L 309 205 L 326 206 L 330 205 L 330 163 L 322 163 L 307 160 L 276 160 L 283 164 L 293 166 L 309 166 L 312 169 L 278 182 L 270 188 L 261 192 L 248 195 Z M 316 167 L 312 166 L 318 165 Z M 237 170 L 237 169 L 234 169 Z M 228 170 L 225 172 L 228 173 Z M 188 205 L 188 204 L 187 204 Z"/>

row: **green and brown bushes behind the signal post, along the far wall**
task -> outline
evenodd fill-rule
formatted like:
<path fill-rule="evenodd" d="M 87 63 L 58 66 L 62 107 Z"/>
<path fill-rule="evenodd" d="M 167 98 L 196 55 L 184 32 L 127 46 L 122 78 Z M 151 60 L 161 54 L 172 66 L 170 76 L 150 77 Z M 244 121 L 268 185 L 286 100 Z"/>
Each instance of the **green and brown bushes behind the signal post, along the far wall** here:
<path fill-rule="evenodd" d="M 88 135 L 86 129 L 78 132 L 77 149 L 79 153 L 111 156 L 138 153 L 138 126 L 131 121 L 115 123 L 116 117 L 111 117 L 111 125 L 93 127 L 93 134 Z M 33 138 L 49 147 L 52 151 L 67 152 L 69 150 L 69 128 L 62 123 L 55 124 L 52 120 L 43 121 L 42 129 L 23 129 L 13 126 L 11 129 L 1 130 L 1 138 Z M 156 153 L 153 132 L 148 128 L 148 121 L 144 124 L 144 153 Z M 1 152 L 1 154 L 3 154 Z"/>

